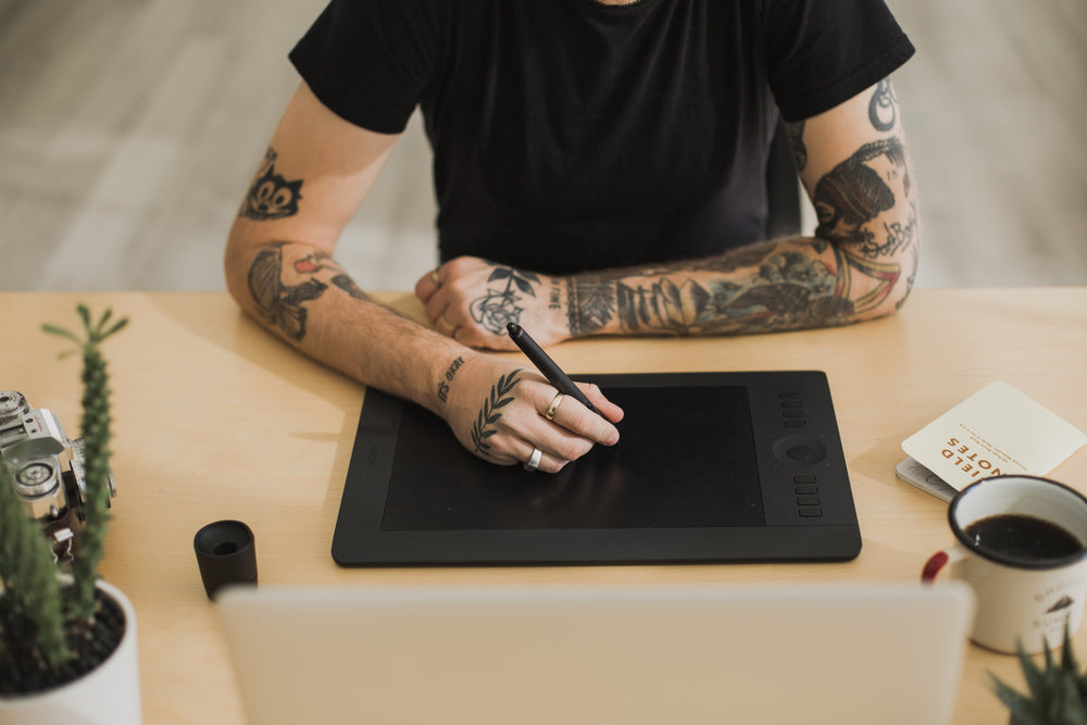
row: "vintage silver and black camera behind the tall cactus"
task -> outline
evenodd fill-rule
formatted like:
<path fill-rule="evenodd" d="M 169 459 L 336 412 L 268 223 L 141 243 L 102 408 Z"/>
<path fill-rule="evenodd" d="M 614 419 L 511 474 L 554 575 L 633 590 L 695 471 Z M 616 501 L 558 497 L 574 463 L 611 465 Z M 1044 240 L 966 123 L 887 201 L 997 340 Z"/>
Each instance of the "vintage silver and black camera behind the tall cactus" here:
<path fill-rule="evenodd" d="M 0 391 L 0 465 L 27 515 L 41 523 L 58 562 L 71 560 L 85 518 L 85 461 L 83 439 L 70 440 L 55 415 L 32 408 L 22 392 Z M 110 497 L 115 495 L 110 474 Z"/>

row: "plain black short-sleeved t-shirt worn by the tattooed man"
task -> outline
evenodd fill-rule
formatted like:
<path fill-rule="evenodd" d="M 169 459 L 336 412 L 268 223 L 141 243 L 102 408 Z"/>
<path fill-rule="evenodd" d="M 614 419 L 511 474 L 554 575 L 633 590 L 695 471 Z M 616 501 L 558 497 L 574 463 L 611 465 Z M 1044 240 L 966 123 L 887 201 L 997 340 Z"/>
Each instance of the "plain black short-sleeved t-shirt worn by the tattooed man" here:
<path fill-rule="evenodd" d="M 566 274 L 761 240 L 778 110 L 912 53 L 883 0 L 333 0 L 290 59 L 364 128 L 422 109 L 442 260 Z"/>

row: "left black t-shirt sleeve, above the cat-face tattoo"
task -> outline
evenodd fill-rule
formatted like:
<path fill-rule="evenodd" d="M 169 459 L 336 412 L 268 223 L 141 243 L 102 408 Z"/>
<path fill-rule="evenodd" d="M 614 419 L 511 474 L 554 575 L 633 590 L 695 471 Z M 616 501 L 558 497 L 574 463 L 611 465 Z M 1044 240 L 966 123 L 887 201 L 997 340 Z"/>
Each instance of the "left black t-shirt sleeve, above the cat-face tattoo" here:
<path fill-rule="evenodd" d="M 434 77 L 440 52 L 433 0 L 332 0 L 289 58 L 338 116 L 398 134 Z"/>

